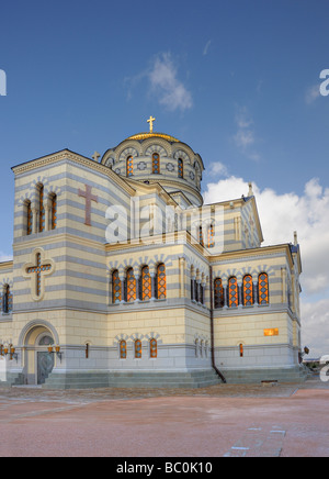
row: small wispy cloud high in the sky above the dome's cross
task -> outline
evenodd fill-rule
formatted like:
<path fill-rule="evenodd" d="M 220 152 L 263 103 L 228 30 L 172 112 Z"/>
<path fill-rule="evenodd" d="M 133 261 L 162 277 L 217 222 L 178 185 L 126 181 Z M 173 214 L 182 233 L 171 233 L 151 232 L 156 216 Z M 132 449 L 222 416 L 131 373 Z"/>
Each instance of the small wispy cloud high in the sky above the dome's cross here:
<path fill-rule="evenodd" d="M 193 105 L 192 94 L 177 75 L 177 67 L 170 53 L 157 56 L 148 75 L 152 92 L 158 96 L 159 103 L 170 111 L 186 110 Z"/>

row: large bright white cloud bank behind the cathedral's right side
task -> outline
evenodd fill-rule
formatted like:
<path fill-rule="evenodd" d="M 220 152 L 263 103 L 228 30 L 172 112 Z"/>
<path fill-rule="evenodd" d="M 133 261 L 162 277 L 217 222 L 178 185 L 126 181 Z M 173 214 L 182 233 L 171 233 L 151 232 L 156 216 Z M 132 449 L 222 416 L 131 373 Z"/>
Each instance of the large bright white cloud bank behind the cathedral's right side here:
<path fill-rule="evenodd" d="M 208 183 L 204 200 L 214 203 L 236 199 L 247 196 L 248 189 L 248 181 L 230 176 Z M 317 354 L 329 353 L 329 299 L 326 299 L 329 298 L 329 188 L 313 178 L 305 185 L 303 194 L 279 194 L 269 188 L 261 190 L 257 185 L 253 192 L 263 245 L 292 243 L 297 231 L 303 265 L 303 341 L 316 347 Z"/>

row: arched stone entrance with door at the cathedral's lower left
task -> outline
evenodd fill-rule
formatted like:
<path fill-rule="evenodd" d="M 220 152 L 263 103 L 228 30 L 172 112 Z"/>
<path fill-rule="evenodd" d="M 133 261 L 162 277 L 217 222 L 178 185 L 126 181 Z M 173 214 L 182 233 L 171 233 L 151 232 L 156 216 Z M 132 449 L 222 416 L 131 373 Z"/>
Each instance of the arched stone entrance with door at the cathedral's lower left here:
<path fill-rule="evenodd" d="M 54 328 L 46 322 L 33 322 L 24 327 L 20 342 L 24 350 L 24 376 L 27 385 L 43 385 L 55 365 L 48 347 L 58 344 Z"/>

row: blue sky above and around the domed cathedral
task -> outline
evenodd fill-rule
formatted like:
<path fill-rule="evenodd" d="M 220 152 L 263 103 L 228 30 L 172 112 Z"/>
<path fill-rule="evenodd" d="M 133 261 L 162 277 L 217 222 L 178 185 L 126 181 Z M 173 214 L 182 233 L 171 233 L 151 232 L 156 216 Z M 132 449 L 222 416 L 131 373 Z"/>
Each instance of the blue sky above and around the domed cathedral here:
<path fill-rule="evenodd" d="M 1 254 L 11 254 L 11 166 L 66 147 L 103 154 L 147 131 L 150 114 L 156 131 L 201 154 L 205 193 L 212 183 L 216 199 L 220 189 L 236 196 L 252 180 L 283 210 L 295 198 L 307 242 L 326 226 L 309 212 L 329 204 L 329 97 L 319 94 L 328 18 L 327 0 L 3 2 Z M 307 304 L 329 301 L 324 286 L 306 296 Z"/>

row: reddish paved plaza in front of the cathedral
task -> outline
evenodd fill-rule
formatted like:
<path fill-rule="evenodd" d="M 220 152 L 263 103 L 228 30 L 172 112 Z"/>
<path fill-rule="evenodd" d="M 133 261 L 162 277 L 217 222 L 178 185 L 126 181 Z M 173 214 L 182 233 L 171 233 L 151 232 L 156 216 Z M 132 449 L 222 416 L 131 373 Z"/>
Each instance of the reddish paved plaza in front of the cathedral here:
<path fill-rule="evenodd" d="M 329 383 L 0 388 L 1 457 L 328 457 Z"/>

